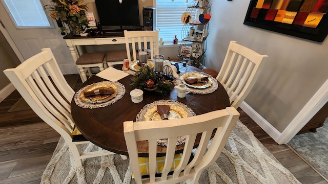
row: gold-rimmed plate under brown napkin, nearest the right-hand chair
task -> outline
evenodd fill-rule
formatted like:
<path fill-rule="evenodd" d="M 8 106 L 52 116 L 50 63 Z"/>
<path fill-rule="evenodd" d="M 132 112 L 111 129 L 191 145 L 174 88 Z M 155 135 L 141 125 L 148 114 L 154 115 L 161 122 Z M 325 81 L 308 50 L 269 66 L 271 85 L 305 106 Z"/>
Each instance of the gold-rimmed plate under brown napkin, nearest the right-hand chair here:
<path fill-rule="evenodd" d="M 187 78 L 201 78 L 201 77 L 209 77 L 209 81 L 207 82 L 197 82 L 195 84 L 188 84 L 185 79 Z M 180 76 L 181 82 L 189 87 L 204 89 L 208 88 L 212 85 L 213 81 L 211 77 L 205 73 L 200 72 L 186 72 L 185 74 Z"/>

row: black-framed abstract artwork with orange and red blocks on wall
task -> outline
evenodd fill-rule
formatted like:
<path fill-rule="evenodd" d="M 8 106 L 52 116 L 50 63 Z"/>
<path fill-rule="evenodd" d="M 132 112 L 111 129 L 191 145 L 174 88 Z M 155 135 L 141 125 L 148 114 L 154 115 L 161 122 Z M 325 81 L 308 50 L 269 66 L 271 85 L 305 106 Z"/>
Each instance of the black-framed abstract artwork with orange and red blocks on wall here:
<path fill-rule="evenodd" d="M 328 0 L 251 0 L 244 25 L 322 42 Z"/>

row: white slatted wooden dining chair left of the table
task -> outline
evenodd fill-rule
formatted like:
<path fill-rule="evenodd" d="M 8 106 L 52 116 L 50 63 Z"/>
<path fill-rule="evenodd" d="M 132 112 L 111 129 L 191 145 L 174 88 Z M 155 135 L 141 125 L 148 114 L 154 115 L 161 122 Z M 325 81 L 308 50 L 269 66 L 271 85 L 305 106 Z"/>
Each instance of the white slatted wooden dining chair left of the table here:
<path fill-rule="evenodd" d="M 42 52 L 16 68 L 4 70 L 4 73 L 37 116 L 64 138 L 74 156 L 76 166 L 82 166 L 81 159 L 84 158 L 114 154 L 100 148 L 93 152 L 80 152 L 78 145 L 92 143 L 83 135 L 76 135 L 83 138 L 81 141 L 74 139 L 76 136 L 73 135 L 74 121 L 70 109 L 74 91 L 60 72 L 49 48 L 42 49 Z"/>

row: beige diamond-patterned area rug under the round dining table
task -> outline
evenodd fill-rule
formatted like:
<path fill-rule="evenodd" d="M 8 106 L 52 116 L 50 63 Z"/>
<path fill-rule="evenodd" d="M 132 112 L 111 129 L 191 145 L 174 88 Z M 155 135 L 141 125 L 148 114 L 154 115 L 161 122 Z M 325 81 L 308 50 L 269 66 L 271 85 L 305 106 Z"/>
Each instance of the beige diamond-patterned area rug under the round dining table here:
<path fill-rule="evenodd" d="M 88 146 L 86 149 L 98 149 Z M 71 153 L 60 139 L 41 183 L 135 183 L 128 160 L 117 154 L 88 158 L 75 167 Z M 185 182 L 182 182 L 185 183 Z M 199 183 L 300 183 L 237 122 L 220 157 L 202 172 Z"/>

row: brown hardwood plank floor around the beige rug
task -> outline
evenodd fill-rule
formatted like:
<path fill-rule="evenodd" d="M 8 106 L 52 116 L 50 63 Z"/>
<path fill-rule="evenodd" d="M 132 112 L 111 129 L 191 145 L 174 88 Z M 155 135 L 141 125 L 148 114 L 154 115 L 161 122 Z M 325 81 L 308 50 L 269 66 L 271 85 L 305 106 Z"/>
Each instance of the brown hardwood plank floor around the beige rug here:
<path fill-rule="evenodd" d="M 77 74 L 65 78 L 74 90 L 81 85 Z M 19 99 L 14 91 L 0 103 L 0 183 L 40 183 L 60 136 L 32 110 L 8 112 Z M 300 182 L 328 183 L 287 145 L 275 143 L 246 113 L 238 111 L 240 121 Z"/>

